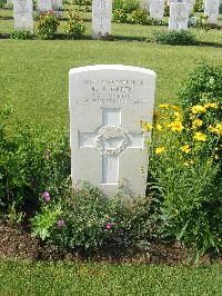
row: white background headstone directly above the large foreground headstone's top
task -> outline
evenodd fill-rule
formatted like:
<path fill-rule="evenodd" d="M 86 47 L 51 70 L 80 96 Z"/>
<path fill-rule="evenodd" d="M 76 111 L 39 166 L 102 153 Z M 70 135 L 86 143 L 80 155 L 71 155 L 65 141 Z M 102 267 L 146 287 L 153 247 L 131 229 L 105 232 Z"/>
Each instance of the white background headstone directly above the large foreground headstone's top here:
<path fill-rule="evenodd" d="M 112 1 L 92 1 L 92 37 L 101 38 L 111 34 Z"/>

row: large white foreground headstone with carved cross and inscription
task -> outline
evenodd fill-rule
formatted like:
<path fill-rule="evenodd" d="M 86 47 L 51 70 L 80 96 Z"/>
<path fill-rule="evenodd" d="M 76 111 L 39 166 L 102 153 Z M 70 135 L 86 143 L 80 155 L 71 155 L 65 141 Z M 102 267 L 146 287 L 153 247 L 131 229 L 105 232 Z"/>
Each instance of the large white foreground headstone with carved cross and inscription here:
<path fill-rule="evenodd" d="M 121 185 L 145 195 L 148 154 L 140 120 L 152 122 L 154 91 L 155 73 L 148 69 L 98 65 L 70 70 L 73 186 L 88 180 L 108 196 Z"/>

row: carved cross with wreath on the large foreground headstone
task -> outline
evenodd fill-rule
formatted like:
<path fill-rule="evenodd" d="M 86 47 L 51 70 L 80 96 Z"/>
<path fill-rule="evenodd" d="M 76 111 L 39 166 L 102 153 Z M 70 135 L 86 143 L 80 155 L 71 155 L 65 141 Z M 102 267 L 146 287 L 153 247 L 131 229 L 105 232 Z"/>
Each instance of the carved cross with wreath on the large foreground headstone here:
<path fill-rule="evenodd" d="M 94 132 L 79 131 L 79 147 L 91 147 L 102 154 L 101 184 L 119 181 L 119 156 L 125 149 L 143 149 L 142 134 L 125 132 L 121 127 L 121 109 L 102 108 L 102 126 Z"/>

